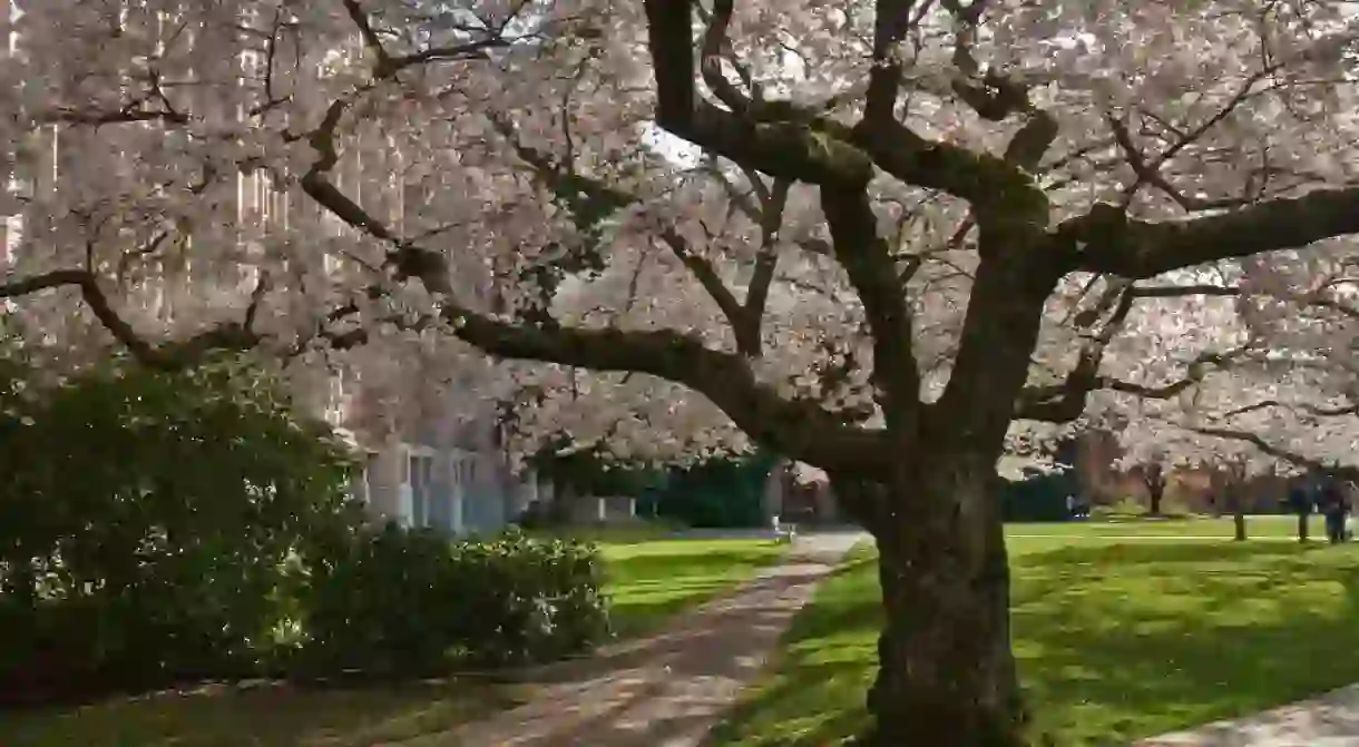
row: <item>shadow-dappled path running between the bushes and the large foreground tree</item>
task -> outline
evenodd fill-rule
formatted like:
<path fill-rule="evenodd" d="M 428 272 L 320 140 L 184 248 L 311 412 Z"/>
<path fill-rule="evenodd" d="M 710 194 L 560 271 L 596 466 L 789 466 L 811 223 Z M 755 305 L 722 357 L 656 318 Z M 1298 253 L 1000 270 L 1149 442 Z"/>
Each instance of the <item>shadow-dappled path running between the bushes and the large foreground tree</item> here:
<path fill-rule="evenodd" d="M 533 702 L 462 727 L 463 747 L 697 747 L 792 615 L 866 535 L 800 535 L 788 561 L 660 634 L 553 670 Z"/>

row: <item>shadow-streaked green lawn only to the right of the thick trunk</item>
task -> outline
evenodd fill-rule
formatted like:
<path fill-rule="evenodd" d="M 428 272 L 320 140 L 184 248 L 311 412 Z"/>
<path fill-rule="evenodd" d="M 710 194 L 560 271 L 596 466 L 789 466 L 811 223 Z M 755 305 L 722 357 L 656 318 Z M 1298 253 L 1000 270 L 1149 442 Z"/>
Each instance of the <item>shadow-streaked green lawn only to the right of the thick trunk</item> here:
<path fill-rule="evenodd" d="M 1067 549 L 1017 576 L 1015 651 L 1049 743 L 1127 744 L 1359 679 L 1349 547 Z"/>

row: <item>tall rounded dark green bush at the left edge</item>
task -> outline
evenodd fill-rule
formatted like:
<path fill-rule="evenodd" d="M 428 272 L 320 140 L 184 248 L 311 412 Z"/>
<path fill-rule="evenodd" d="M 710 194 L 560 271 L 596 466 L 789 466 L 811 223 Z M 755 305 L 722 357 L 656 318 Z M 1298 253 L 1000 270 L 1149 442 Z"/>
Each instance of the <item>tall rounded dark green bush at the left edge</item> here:
<path fill-rule="evenodd" d="M 0 699 L 257 671 L 348 452 L 231 361 L 0 386 Z M 12 633 L 12 636 L 11 636 Z"/>

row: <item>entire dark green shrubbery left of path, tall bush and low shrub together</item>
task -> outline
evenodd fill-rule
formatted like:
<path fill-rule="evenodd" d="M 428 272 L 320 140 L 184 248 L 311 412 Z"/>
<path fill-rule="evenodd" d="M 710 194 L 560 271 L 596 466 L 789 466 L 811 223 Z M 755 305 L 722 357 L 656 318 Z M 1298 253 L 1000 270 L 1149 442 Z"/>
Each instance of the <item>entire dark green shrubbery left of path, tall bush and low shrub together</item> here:
<path fill-rule="evenodd" d="M 0 704 L 545 661 L 607 632 L 590 546 L 374 528 L 353 463 L 223 361 L 22 386 L 0 359 Z"/>

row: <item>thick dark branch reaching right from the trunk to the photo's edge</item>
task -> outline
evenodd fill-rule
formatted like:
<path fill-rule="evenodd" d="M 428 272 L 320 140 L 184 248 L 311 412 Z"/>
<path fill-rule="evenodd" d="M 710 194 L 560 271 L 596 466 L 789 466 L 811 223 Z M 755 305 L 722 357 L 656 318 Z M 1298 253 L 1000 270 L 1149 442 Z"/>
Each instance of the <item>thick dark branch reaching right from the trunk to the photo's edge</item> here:
<path fill-rule="evenodd" d="M 1070 270 L 1146 278 L 1349 234 L 1359 234 L 1359 186 L 1318 189 L 1189 220 L 1133 220 L 1099 204 L 1059 225 L 1049 249 Z"/>

